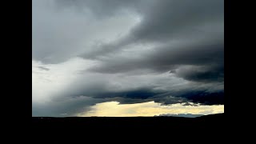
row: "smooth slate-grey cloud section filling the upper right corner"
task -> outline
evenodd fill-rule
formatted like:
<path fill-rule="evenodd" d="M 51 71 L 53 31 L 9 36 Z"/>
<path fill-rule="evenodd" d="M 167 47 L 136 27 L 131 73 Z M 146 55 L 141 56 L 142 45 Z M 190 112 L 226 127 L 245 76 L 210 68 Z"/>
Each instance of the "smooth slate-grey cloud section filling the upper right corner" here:
<path fill-rule="evenodd" d="M 174 37 L 222 34 L 223 20 L 222 0 L 162 0 L 146 10 L 143 21 L 134 28 L 132 36 L 146 41 L 170 41 Z"/>

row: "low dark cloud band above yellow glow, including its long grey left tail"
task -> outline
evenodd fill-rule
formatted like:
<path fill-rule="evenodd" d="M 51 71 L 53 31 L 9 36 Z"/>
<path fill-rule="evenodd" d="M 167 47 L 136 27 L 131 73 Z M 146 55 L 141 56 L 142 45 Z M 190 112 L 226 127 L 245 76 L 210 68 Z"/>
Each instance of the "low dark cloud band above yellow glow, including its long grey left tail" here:
<path fill-rule="evenodd" d="M 104 85 L 104 84 L 102 84 Z M 203 85 L 203 84 L 201 84 Z M 83 86 L 83 85 L 82 85 Z M 82 95 L 86 97 L 100 99 L 102 102 L 117 101 L 121 104 L 133 104 L 140 102 L 158 102 L 163 105 L 183 103 L 183 102 L 195 102 L 206 105 L 224 104 L 224 91 L 222 89 L 211 90 L 209 87 L 198 86 L 186 86 L 182 89 L 176 89 L 172 87 L 167 90 L 158 90 L 156 87 L 145 87 L 137 88 L 134 90 L 107 90 L 105 89 L 94 89 L 90 88 L 72 90 L 73 93 L 66 93 L 67 98 L 81 98 Z M 95 87 L 92 86 L 92 87 Z M 99 86 L 96 86 L 99 87 Z M 65 94 L 62 94 L 62 96 Z M 58 101 L 58 98 L 57 98 Z"/>

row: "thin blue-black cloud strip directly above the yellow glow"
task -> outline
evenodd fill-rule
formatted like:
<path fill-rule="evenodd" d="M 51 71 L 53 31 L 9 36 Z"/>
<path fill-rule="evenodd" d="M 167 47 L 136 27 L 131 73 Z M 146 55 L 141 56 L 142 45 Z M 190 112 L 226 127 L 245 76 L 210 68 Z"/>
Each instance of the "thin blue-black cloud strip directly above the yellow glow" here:
<path fill-rule="evenodd" d="M 197 106 L 189 102 L 201 103 L 202 105 L 224 105 L 224 91 L 206 92 L 202 90 L 185 90 L 181 94 L 177 92 L 155 92 L 136 90 L 122 93 L 102 94 L 96 98 L 105 98 L 106 102 L 117 101 L 121 104 L 134 104 L 141 102 L 158 102 L 162 105 L 186 103 L 184 106 Z"/>

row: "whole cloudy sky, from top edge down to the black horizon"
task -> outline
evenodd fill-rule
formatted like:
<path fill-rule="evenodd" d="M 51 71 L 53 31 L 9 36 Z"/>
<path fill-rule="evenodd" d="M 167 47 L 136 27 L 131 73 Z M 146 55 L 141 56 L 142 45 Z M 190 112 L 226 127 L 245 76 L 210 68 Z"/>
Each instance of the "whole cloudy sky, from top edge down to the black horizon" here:
<path fill-rule="evenodd" d="M 218 113 L 223 0 L 32 2 L 32 116 Z"/>

